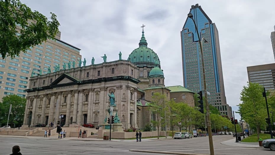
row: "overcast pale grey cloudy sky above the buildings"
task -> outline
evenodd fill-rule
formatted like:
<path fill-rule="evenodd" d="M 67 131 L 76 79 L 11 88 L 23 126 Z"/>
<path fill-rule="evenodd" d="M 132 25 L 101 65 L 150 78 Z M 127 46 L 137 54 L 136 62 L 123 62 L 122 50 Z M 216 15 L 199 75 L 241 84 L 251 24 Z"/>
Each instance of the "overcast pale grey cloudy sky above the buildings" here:
<path fill-rule="evenodd" d="M 32 10 L 56 14 L 61 40 L 81 49 L 91 64 L 127 60 L 141 38 L 157 53 L 165 85 L 183 85 L 180 31 L 191 5 L 199 4 L 219 31 L 227 104 L 237 111 L 247 85 L 247 66 L 274 63 L 270 34 L 275 25 L 274 0 L 21 0 Z M 240 117 L 235 115 L 237 119 Z"/>

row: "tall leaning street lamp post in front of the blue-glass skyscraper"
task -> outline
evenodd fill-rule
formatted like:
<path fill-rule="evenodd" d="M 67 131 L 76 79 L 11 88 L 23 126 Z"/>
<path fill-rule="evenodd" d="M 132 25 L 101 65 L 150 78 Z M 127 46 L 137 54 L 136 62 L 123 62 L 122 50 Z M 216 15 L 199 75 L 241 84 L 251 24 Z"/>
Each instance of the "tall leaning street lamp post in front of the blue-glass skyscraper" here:
<path fill-rule="evenodd" d="M 210 148 L 210 154 L 214 155 L 214 146 L 213 146 L 213 139 L 212 139 L 212 131 L 211 131 L 211 121 L 210 121 L 210 114 L 209 114 L 209 103 L 208 103 L 208 98 L 207 98 L 207 89 L 206 89 L 206 77 L 205 77 L 205 68 L 204 68 L 204 60 L 203 60 L 203 47 L 201 44 L 200 36 L 199 36 L 199 31 L 197 28 L 197 25 L 195 23 L 195 20 L 193 19 L 192 13 L 189 13 L 187 15 L 189 18 L 191 18 L 194 22 L 197 34 L 198 34 L 198 39 L 200 43 L 200 54 L 201 54 L 201 63 L 203 67 L 203 86 L 204 86 L 204 96 L 205 96 L 205 104 L 206 104 L 206 118 L 207 118 L 207 128 L 208 128 L 208 139 L 209 139 L 209 148 Z M 203 39 L 202 39 L 203 40 Z M 204 39 L 204 43 L 208 43 L 206 39 Z"/>

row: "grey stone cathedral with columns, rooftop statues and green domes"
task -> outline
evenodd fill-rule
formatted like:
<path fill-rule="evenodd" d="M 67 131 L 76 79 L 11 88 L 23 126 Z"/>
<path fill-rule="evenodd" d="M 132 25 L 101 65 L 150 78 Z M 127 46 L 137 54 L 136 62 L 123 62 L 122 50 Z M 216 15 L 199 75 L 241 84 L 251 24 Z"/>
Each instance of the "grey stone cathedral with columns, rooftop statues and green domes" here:
<path fill-rule="evenodd" d="M 153 119 L 148 103 L 156 92 L 166 95 L 166 100 L 195 106 L 194 92 L 180 85 L 165 86 L 161 61 L 147 47 L 144 30 L 139 47 L 127 60 L 121 59 L 121 53 L 119 60 L 111 62 L 104 56 L 100 64 L 92 60 L 92 65 L 80 63 L 30 77 L 22 127 L 51 122 L 64 127 L 86 123 L 97 127 L 106 123 L 112 106 L 113 116 L 119 117 L 123 128 L 143 129 Z"/>

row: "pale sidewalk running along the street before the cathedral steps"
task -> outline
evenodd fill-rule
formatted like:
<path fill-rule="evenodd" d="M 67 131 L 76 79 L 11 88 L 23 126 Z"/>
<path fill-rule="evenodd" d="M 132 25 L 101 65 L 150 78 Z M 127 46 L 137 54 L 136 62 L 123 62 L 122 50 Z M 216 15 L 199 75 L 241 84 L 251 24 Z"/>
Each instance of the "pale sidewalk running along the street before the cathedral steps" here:
<path fill-rule="evenodd" d="M 103 140 L 103 138 L 77 138 L 77 137 L 66 137 L 65 139 L 58 139 L 57 135 L 51 136 L 51 137 L 37 137 L 37 136 L 13 136 L 13 135 L 0 135 L 0 137 L 14 137 L 14 138 L 30 138 L 30 139 L 41 139 L 41 140 L 81 140 L 81 141 L 109 141 L 109 140 Z M 157 138 L 141 138 L 142 142 L 151 142 L 151 141 L 158 141 L 158 140 L 167 140 L 172 139 L 172 137 L 167 136 Z M 136 142 L 136 139 L 111 139 L 111 141 L 115 142 Z"/>

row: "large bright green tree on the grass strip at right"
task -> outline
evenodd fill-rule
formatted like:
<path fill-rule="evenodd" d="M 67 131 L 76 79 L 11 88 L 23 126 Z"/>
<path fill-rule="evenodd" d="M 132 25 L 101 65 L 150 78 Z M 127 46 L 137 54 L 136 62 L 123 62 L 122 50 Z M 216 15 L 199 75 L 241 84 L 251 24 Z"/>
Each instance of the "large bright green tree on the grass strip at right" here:
<path fill-rule="evenodd" d="M 248 83 L 248 86 L 244 86 L 241 92 L 239 113 L 242 114 L 242 118 L 250 124 L 251 127 L 255 127 L 260 138 L 261 127 L 265 123 L 266 103 L 265 98 L 262 96 L 263 86 L 257 83 Z"/>

